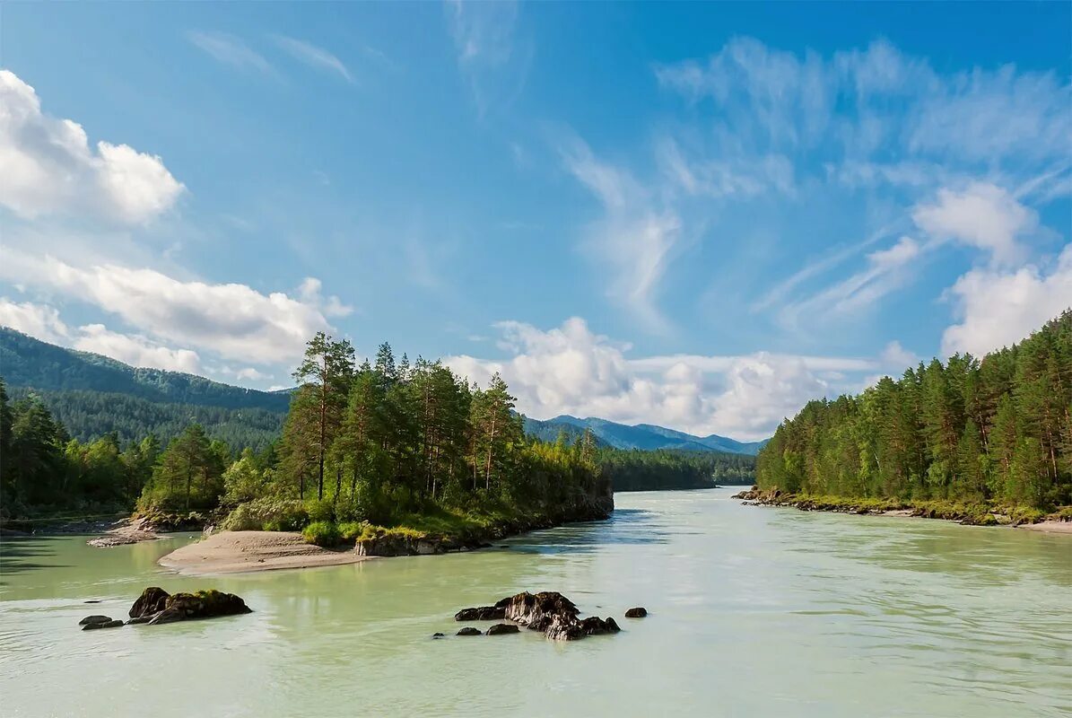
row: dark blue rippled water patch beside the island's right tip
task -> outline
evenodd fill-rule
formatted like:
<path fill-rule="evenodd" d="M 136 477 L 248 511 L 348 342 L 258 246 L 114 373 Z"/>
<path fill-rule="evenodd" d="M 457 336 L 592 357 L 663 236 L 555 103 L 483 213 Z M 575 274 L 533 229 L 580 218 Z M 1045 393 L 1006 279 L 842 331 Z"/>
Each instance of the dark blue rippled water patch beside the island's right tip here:
<path fill-rule="evenodd" d="M 594 552 L 609 544 L 668 543 L 670 531 L 655 521 L 656 515 L 656 512 L 646 509 L 615 509 L 606 521 L 567 524 L 534 531 L 511 540 L 508 545 L 519 553 L 555 554 Z"/>

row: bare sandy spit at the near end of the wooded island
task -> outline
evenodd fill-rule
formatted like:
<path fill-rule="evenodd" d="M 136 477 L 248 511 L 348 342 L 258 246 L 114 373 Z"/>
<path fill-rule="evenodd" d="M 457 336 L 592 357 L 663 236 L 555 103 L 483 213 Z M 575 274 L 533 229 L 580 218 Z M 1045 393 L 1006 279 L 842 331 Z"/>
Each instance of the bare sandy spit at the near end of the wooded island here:
<path fill-rule="evenodd" d="M 158 561 L 179 573 L 242 573 L 313 566 L 357 563 L 368 556 L 354 550 L 328 551 L 287 531 L 223 531 L 182 546 Z"/>

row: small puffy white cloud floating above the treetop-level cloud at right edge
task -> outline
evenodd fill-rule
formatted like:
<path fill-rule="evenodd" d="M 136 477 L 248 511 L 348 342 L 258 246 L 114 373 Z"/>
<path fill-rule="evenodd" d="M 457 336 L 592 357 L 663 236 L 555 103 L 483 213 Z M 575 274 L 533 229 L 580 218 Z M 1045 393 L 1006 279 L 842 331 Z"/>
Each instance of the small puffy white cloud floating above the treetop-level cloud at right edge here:
<path fill-rule="evenodd" d="M 918 206 L 912 219 L 932 236 L 986 251 L 995 264 L 1003 265 L 1023 260 L 1025 249 L 1016 237 L 1033 231 L 1039 221 L 1033 209 L 985 182 L 961 192 L 941 189 L 937 202 Z"/>

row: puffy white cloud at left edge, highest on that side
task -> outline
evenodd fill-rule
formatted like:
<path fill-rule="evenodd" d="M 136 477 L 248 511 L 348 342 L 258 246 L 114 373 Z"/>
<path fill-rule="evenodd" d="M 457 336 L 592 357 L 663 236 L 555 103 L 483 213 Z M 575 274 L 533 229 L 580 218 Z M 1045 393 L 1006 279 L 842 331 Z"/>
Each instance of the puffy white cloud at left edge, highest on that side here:
<path fill-rule="evenodd" d="M 169 209 L 184 187 L 155 156 L 99 142 L 41 111 L 32 87 L 0 70 L 0 204 L 25 218 L 66 214 L 138 224 Z"/>

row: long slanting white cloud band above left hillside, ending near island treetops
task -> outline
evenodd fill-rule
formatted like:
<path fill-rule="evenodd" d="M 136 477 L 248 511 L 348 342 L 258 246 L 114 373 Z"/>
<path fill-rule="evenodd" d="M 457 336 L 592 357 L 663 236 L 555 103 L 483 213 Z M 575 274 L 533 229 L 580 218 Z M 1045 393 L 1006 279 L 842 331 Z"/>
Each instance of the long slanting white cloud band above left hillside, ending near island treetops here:
<path fill-rule="evenodd" d="M 351 310 L 337 297 L 324 298 L 316 279 L 307 279 L 292 296 L 116 264 L 75 267 L 12 251 L 5 259 L 2 278 L 88 302 L 162 341 L 254 364 L 296 360 L 315 332 L 329 328 L 329 317 Z"/>

